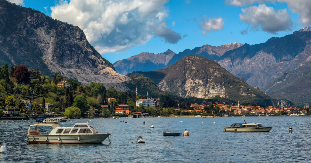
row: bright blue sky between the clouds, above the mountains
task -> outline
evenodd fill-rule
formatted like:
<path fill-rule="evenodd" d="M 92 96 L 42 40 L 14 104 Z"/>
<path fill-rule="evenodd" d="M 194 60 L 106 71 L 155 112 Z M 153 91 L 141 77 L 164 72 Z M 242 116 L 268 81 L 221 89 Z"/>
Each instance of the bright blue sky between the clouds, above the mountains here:
<path fill-rule="evenodd" d="M 82 1 L 82 0 L 81 0 Z M 243 0 L 241 0 L 243 1 Z M 247 0 L 246 0 L 247 1 Z M 188 3 L 189 2 L 189 3 Z M 57 0 L 45 0 L 45 1 L 38 1 L 38 0 L 24 0 L 24 6 L 25 7 L 31 7 L 36 10 L 44 12 L 44 14 L 51 16 L 52 10 L 50 7 L 55 6 L 61 6 L 66 7 L 66 5 L 69 4 L 66 3 L 64 5 L 63 2 L 57 1 Z M 224 0 L 170 0 L 169 2 L 159 5 L 160 8 L 159 11 L 163 11 L 163 13 L 166 13 L 167 16 L 161 21 L 155 21 L 155 26 L 160 24 L 161 22 L 167 22 L 167 27 L 171 27 L 171 30 L 169 28 L 165 28 L 168 32 L 176 32 L 179 33 L 181 38 L 178 38 L 177 43 L 170 43 L 167 41 L 169 38 L 166 38 L 165 36 L 161 34 L 156 34 L 157 30 L 149 32 L 149 35 L 152 35 L 150 39 L 146 39 L 145 42 L 142 41 L 142 43 L 132 43 L 127 48 L 118 48 L 116 52 L 107 52 L 102 53 L 102 56 L 109 60 L 110 62 L 114 63 L 115 61 L 118 61 L 120 59 L 125 59 L 128 57 L 131 57 L 133 55 L 139 54 L 141 52 L 152 52 L 152 53 L 160 53 L 165 52 L 167 49 L 170 49 L 176 53 L 181 52 L 185 49 L 193 49 L 195 47 L 200 47 L 205 44 L 209 44 L 212 46 L 220 46 L 223 44 L 228 43 L 248 43 L 248 44 L 257 44 L 257 43 L 263 43 L 266 42 L 271 37 L 282 37 L 286 34 L 292 34 L 295 30 L 299 30 L 300 28 L 304 28 L 305 26 L 302 25 L 301 20 L 299 19 L 299 13 L 292 13 L 292 8 L 288 8 L 288 4 L 285 2 L 266 2 L 264 3 L 267 7 L 273 7 L 274 10 L 278 11 L 279 9 L 286 9 L 287 13 L 290 16 L 290 19 L 292 21 L 292 25 L 290 25 L 290 29 L 286 31 L 276 31 L 276 32 L 267 32 L 263 31 L 261 25 L 258 25 L 257 29 L 251 29 L 251 27 L 254 24 L 246 24 L 248 20 L 241 20 L 239 14 L 243 14 L 242 8 L 248 8 L 252 6 L 258 6 L 259 4 L 257 2 L 253 4 L 248 4 L 244 6 L 234 6 L 234 5 L 228 5 L 225 4 Z M 44 7 L 47 7 L 46 9 Z M 56 12 L 56 11 L 55 11 Z M 62 13 L 57 13 L 62 14 Z M 58 18 L 58 20 L 68 22 L 68 23 L 76 23 L 73 25 L 78 25 L 77 22 L 70 22 L 70 19 L 62 18 L 61 16 L 55 14 L 55 17 Z M 63 14 L 64 15 L 64 14 Z M 283 13 L 284 15 L 284 13 Z M 285 14 L 286 15 L 286 14 Z M 74 16 L 70 15 L 70 16 Z M 68 17 L 70 17 L 68 16 Z M 204 30 L 202 27 L 199 27 L 199 22 L 202 21 L 202 16 L 204 16 L 204 19 L 208 21 L 209 19 L 217 19 L 222 18 L 223 26 L 221 29 L 216 31 L 207 31 Z M 53 14 L 52 14 L 53 17 Z M 64 20 L 62 20 L 64 19 Z M 159 18 L 160 19 L 160 18 Z M 144 22 L 150 22 L 154 21 L 154 18 L 145 19 Z M 172 23 L 175 23 L 173 26 Z M 282 25 L 282 24 L 281 24 Z M 86 32 L 86 24 L 82 24 L 80 27 Z M 284 25 L 282 25 L 284 26 Z M 118 25 L 115 24 L 114 29 L 124 29 L 127 26 L 120 26 L 118 28 Z M 281 26 L 280 26 L 281 27 Z M 132 26 L 128 27 L 132 28 Z M 142 25 L 142 28 L 145 28 L 145 26 Z M 146 26 L 146 28 L 151 28 L 151 26 Z M 118 31 L 118 29 L 116 29 Z M 248 29 L 247 34 L 241 34 L 240 31 Z M 102 30 L 102 29 L 101 29 Z M 124 29 L 125 30 L 125 29 Z M 124 31 L 123 30 L 123 31 Z M 142 29 L 139 29 L 142 30 Z M 270 30 L 270 29 L 269 29 Z M 202 34 L 202 31 L 205 31 L 206 35 Z M 137 31 L 136 31 L 137 32 Z M 277 33 L 277 34 L 276 34 Z M 118 33 L 116 33 L 118 34 Z M 130 33 L 127 31 L 126 33 L 129 35 Z M 146 34 L 146 35 L 148 35 Z M 154 35 L 153 35 L 154 34 Z M 112 35 L 112 34 L 110 34 Z M 110 35 L 107 35 L 107 38 L 110 37 Z M 114 36 L 114 35 L 113 35 Z M 172 36 L 173 37 L 173 36 Z M 103 52 L 104 50 L 100 50 L 101 44 L 105 44 L 107 42 L 104 41 L 98 41 L 96 39 L 102 39 L 102 38 L 93 38 L 94 41 L 90 42 L 96 50 L 99 52 Z M 177 38 L 176 38 L 177 39 Z M 88 39 L 90 41 L 90 39 Z M 110 39 L 111 40 L 111 39 Z M 110 41 L 109 40 L 109 41 Z M 108 40 L 107 40 L 108 41 Z M 131 41 L 131 40 L 130 40 Z M 135 41 L 135 40 L 134 40 Z M 110 41 L 111 42 L 111 41 Z M 123 42 L 124 44 L 124 42 Z M 141 45 L 142 44 L 142 45 Z M 122 45 L 122 44 L 121 44 Z M 110 51 L 112 48 L 114 48 L 111 45 L 109 47 Z"/>

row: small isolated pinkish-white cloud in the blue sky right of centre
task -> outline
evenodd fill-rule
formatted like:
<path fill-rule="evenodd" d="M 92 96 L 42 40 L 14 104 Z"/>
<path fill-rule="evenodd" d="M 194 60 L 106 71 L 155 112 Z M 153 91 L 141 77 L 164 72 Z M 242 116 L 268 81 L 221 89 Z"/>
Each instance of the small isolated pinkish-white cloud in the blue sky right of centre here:
<path fill-rule="evenodd" d="M 210 18 L 208 21 L 204 19 L 205 16 L 202 16 L 202 21 L 199 22 L 199 27 L 206 32 L 222 30 L 224 22 L 222 18 Z M 205 31 L 202 31 L 202 34 L 206 35 Z"/>

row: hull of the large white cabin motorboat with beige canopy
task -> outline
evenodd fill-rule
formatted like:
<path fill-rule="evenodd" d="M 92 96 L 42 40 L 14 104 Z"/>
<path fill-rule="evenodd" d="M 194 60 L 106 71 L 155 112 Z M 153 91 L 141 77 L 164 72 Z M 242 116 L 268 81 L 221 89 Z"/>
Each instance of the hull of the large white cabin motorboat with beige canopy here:
<path fill-rule="evenodd" d="M 110 134 L 86 134 L 86 135 L 27 135 L 28 143 L 67 143 L 67 144 L 81 144 L 81 143 L 101 143 Z M 80 136 L 80 141 L 78 140 Z M 46 140 L 46 137 L 47 140 Z M 59 137 L 59 141 L 58 141 Z M 33 141 L 34 138 L 34 141 Z"/>

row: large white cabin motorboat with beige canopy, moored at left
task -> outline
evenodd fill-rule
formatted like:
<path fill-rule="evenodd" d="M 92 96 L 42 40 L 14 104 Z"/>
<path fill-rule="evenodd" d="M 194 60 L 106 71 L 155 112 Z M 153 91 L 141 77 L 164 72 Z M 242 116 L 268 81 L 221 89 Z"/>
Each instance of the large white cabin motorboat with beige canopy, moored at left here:
<path fill-rule="evenodd" d="M 50 128 L 53 128 L 51 131 Z M 101 143 L 110 134 L 100 134 L 89 123 L 76 123 L 73 127 L 60 127 L 58 124 L 30 125 L 28 143 Z"/>

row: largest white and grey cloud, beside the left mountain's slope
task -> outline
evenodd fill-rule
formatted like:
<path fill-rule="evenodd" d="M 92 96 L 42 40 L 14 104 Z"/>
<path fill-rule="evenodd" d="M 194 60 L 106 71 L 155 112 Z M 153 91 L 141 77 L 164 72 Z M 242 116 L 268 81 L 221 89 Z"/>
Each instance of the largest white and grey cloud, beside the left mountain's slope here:
<path fill-rule="evenodd" d="M 55 19 L 79 26 L 100 53 L 122 52 L 152 37 L 177 43 L 182 36 L 167 27 L 169 0 L 62 0 L 51 7 Z"/>

